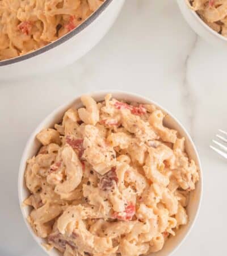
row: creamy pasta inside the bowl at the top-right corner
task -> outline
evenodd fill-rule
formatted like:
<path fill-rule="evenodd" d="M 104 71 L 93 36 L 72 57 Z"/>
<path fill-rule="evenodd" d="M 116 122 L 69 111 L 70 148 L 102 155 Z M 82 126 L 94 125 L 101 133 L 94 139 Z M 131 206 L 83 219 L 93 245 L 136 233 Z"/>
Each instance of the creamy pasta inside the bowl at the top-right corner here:
<path fill-rule="evenodd" d="M 227 0 L 187 1 L 209 27 L 222 36 L 227 36 Z"/>

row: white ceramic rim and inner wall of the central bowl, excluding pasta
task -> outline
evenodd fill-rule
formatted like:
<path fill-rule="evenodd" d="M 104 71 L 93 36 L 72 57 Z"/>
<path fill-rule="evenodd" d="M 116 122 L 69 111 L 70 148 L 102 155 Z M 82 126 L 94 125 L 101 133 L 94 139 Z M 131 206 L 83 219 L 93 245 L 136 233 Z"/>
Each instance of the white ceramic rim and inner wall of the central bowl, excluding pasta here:
<path fill-rule="evenodd" d="M 161 106 L 156 104 L 154 101 L 149 100 L 148 98 L 132 94 L 132 93 L 127 93 L 127 92 L 96 92 L 96 93 L 91 93 L 90 95 L 96 100 L 96 101 L 101 101 L 104 100 L 104 96 L 107 93 L 112 93 L 112 96 L 117 98 L 118 100 L 127 100 L 129 102 L 131 101 L 137 101 L 141 102 L 144 104 L 154 104 L 157 106 L 158 109 L 161 109 L 164 113 L 166 113 L 166 118 L 165 118 L 165 125 L 173 128 L 175 130 L 179 131 L 179 134 L 182 137 L 186 138 L 186 151 L 188 155 L 190 156 L 191 159 L 194 159 L 196 164 L 199 166 L 200 169 L 200 180 L 196 184 L 196 189 L 195 191 L 191 192 L 190 196 L 190 202 L 187 207 L 187 212 L 189 216 L 189 222 L 187 225 L 182 226 L 176 233 L 175 237 L 171 237 L 167 242 L 165 243 L 165 246 L 161 251 L 158 251 L 158 253 L 152 254 L 153 256 L 167 256 L 170 255 L 171 253 L 176 250 L 176 248 L 183 242 L 184 238 L 186 238 L 187 234 L 190 232 L 192 226 L 194 225 L 196 216 L 199 212 L 200 208 L 200 203 L 201 203 L 201 196 L 202 196 L 202 184 L 203 184 L 203 176 L 201 173 L 201 164 L 199 160 L 199 156 L 197 154 L 196 148 L 194 143 L 192 142 L 192 139 L 190 135 L 187 133 L 187 131 L 184 129 L 184 127 L 180 124 L 180 122 L 173 117 L 172 114 L 167 112 L 165 109 L 163 109 Z M 70 106 L 75 106 L 76 108 L 81 107 L 81 101 L 79 97 L 75 97 L 74 100 L 67 102 L 66 104 L 60 106 L 56 110 L 54 110 L 51 114 L 48 115 L 47 118 L 44 119 L 43 122 L 40 123 L 40 125 L 36 128 L 36 130 L 32 133 L 30 139 L 28 140 L 26 144 L 26 148 L 24 149 L 22 160 L 20 162 L 20 168 L 19 168 L 19 178 L 18 178 L 18 191 L 19 191 L 19 203 L 21 206 L 22 214 L 24 221 L 26 222 L 28 230 L 30 230 L 33 238 L 36 240 L 36 242 L 41 245 L 42 242 L 45 240 L 36 237 L 35 234 L 33 233 L 31 226 L 28 224 L 26 221 L 28 214 L 30 213 L 31 208 L 30 207 L 22 207 L 22 203 L 24 199 L 26 199 L 29 195 L 29 192 L 26 188 L 26 185 L 24 183 L 24 170 L 26 169 L 26 161 L 28 158 L 31 158 L 33 155 L 37 153 L 39 150 L 41 144 L 37 142 L 36 140 L 36 134 L 39 133 L 39 131 L 43 128 L 47 127 L 53 127 L 54 123 L 59 123 L 62 120 L 62 117 L 64 115 L 64 112 L 70 107 Z M 44 247 L 41 246 L 43 249 Z M 45 249 L 44 249 L 45 250 Z M 57 250 L 51 250 L 47 251 L 47 253 L 51 256 L 57 256 L 61 255 L 58 253 Z"/>

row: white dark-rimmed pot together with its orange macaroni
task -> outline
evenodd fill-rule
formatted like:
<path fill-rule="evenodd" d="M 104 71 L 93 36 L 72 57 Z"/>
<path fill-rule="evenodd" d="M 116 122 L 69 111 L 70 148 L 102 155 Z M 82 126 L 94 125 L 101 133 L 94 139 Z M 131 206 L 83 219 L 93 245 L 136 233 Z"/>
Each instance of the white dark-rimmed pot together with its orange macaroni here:
<path fill-rule="evenodd" d="M 0 77 L 64 67 L 111 27 L 124 0 L 0 1 Z"/>

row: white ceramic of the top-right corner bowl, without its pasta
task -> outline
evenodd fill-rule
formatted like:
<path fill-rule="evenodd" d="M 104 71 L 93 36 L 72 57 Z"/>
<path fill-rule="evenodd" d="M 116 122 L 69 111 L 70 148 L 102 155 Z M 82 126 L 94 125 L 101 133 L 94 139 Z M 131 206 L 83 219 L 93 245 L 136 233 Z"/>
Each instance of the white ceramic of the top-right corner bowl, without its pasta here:
<path fill-rule="evenodd" d="M 188 0 L 177 0 L 184 19 L 188 22 L 190 27 L 208 43 L 217 47 L 227 47 L 227 38 L 212 30 L 203 20 L 196 14 L 196 12 L 187 4 Z"/>

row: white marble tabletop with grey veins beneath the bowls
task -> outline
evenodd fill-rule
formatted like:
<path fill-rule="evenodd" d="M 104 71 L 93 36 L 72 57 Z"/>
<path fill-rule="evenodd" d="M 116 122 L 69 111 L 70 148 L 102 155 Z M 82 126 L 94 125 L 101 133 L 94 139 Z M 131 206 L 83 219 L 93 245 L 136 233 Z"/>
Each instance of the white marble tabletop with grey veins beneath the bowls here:
<path fill-rule="evenodd" d="M 0 82 L 0 255 L 44 256 L 18 205 L 19 160 L 32 130 L 54 108 L 94 90 L 140 93 L 170 110 L 190 131 L 204 173 L 199 218 L 175 256 L 227 255 L 227 163 L 209 149 L 227 130 L 227 53 L 188 27 L 174 0 L 127 0 L 104 39 L 60 72 Z"/>

